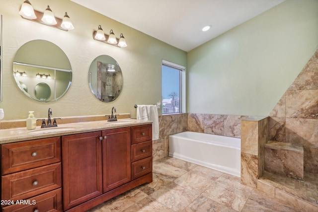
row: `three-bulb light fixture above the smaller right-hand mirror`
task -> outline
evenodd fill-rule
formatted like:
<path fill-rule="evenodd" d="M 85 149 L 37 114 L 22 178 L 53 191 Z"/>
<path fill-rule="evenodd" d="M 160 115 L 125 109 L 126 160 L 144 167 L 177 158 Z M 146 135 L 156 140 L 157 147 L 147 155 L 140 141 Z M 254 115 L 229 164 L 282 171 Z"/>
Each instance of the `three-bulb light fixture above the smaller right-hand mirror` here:
<path fill-rule="evenodd" d="M 127 47 L 125 37 L 123 33 L 120 34 L 120 38 L 116 38 L 113 30 L 111 29 L 109 35 L 104 34 L 101 25 L 98 26 L 98 30 L 93 32 L 94 40 L 101 41 L 117 47 Z"/>

